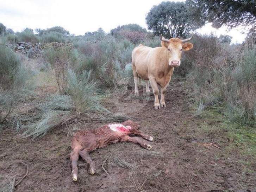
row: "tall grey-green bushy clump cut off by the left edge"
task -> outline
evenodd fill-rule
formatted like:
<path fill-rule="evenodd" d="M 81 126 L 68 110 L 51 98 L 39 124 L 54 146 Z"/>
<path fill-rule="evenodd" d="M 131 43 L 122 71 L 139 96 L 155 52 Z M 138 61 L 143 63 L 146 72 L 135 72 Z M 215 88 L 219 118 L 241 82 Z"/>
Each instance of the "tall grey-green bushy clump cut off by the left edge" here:
<path fill-rule="evenodd" d="M 0 122 L 11 115 L 16 105 L 32 95 L 32 75 L 19 57 L 0 45 Z"/>

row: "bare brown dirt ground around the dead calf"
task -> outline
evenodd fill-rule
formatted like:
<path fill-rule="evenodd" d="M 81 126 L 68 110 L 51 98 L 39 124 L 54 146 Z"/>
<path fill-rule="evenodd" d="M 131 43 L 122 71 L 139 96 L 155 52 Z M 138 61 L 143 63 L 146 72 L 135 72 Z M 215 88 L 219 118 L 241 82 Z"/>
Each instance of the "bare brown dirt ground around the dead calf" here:
<path fill-rule="evenodd" d="M 104 101 L 112 113 L 140 123 L 141 131 L 154 137 L 153 151 L 133 143 L 116 143 L 90 155 L 96 174 L 79 159 L 79 180 L 71 179 L 71 137 L 66 128 L 54 129 L 42 139 L 20 139 L 11 129 L 0 132 L 0 174 L 27 177 L 15 191 L 256 191 L 253 157 L 232 148 L 225 129 L 203 130 L 202 124 L 218 127 L 218 121 L 194 118 L 189 110 L 184 79 L 175 78 L 167 90 L 167 108 L 155 110 L 154 96 L 139 97 L 115 91 Z M 40 92 L 42 94 L 42 90 Z M 106 124 L 89 122 L 80 129 Z M 215 146 L 210 143 L 216 144 Z"/>

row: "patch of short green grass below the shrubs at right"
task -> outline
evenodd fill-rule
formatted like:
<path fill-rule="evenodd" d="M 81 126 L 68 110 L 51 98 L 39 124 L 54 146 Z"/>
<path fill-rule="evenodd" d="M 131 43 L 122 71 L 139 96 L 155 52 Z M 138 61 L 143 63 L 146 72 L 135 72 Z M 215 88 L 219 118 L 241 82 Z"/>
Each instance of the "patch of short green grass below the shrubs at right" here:
<path fill-rule="evenodd" d="M 205 120 L 199 124 L 199 132 L 226 133 L 229 146 L 225 148 L 232 153 L 235 149 L 241 155 L 256 158 L 256 127 L 245 125 L 243 122 L 230 121 L 221 114 L 223 108 L 210 107 L 202 112 L 200 119 Z M 223 135 L 220 135 L 223 136 Z"/>

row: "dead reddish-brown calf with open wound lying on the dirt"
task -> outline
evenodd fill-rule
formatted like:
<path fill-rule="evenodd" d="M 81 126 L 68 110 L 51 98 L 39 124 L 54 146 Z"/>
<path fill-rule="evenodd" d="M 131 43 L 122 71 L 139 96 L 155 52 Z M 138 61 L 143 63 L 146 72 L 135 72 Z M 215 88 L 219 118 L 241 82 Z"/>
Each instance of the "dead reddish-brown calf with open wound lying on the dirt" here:
<path fill-rule="evenodd" d="M 130 134 L 138 135 L 148 141 L 152 141 L 153 137 L 145 135 L 138 130 L 139 125 L 131 120 L 125 121 L 121 124 L 107 124 L 98 129 L 85 130 L 77 132 L 73 137 L 70 153 L 70 160 L 72 165 L 72 179 L 77 181 L 78 168 L 77 161 L 79 156 L 82 157 L 89 164 L 89 174 L 95 173 L 95 163 L 89 156 L 89 152 L 103 148 L 111 143 L 117 142 L 133 142 L 138 143 L 143 148 L 152 149 L 151 145 L 146 143 L 139 137 L 130 137 Z"/>

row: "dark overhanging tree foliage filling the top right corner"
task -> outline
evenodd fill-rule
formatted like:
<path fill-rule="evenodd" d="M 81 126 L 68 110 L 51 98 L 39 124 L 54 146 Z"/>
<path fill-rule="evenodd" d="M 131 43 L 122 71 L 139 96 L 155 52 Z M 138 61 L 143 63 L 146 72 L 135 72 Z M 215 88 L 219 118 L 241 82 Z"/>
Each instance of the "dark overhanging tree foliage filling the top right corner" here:
<path fill-rule="evenodd" d="M 216 28 L 256 24 L 256 0 L 186 0 L 186 3 Z"/>

